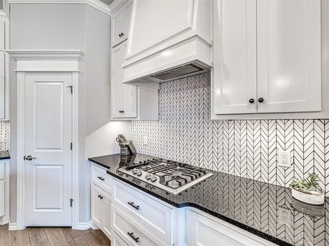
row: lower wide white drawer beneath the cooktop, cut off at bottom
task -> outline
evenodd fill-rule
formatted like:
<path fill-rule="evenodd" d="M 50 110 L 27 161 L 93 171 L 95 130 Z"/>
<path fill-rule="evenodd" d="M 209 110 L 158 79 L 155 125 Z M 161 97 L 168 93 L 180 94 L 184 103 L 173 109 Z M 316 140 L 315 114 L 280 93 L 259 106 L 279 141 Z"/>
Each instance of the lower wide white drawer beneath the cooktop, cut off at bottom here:
<path fill-rule="evenodd" d="M 129 245 L 166 245 L 160 241 L 149 230 L 143 228 L 137 221 L 122 212 L 116 206 L 112 206 L 111 228 Z M 138 229 L 137 229 L 138 228 Z M 130 234 L 130 235 L 129 235 Z M 134 240 L 134 238 L 136 240 Z"/>

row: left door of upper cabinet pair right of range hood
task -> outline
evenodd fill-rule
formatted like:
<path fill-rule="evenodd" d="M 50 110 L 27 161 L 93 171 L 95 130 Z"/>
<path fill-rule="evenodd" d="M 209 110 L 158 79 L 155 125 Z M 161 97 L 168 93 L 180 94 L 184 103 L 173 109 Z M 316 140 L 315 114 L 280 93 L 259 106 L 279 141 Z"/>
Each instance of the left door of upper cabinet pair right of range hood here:
<path fill-rule="evenodd" d="M 256 0 L 214 9 L 214 113 L 257 113 Z"/>

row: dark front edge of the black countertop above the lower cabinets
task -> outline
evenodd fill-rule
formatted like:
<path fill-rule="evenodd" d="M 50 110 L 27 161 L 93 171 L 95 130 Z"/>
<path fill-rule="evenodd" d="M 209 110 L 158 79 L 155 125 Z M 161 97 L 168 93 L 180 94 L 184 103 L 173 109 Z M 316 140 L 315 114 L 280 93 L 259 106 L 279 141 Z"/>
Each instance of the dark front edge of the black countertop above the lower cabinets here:
<path fill-rule="evenodd" d="M 110 168 L 110 167 L 108 167 L 108 166 L 106 166 L 106 165 L 104 165 L 104 164 L 102 164 L 102 163 L 94 160 L 93 158 L 88 158 L 88 160 L 89 161 L 92 161 L 92 162 L 96 163 L 97 165 L 100 165 L 100 166 L 102 166 L 104 168 L 108 168 L 108 169 Z M 276 243 L 276 244 L 281 245 L 281 246 L 294 246 L 293 244 L 287 243 L 287 242 L 285 242 L 283 240 L 280 240 L 279 238 L 273 237 L 271 235 L 268 235 L 266 233 L 263 233 L 261 231 L 258 231 L 258 230 L 254 229 L 254 228 L 248 227 L 246 224 L 237 222 L 234 219 L 228 218 L 228 217 L 226 217 L 226 216 L 224 216 L 222 214 L 218 214 L 216 212 L 213 212 L 211 210 L 208 210 L 208 209 L 206 209 L 206 208 L 204 208 L 202 206 L 199 206 L 198 204 L 195 204 L 193 202 L 176 203 L 176 202 L 173 202 L 171 200 L 168 200 L 167 198 L 165 198 L 163 196 L 160 196 L 160 195 L 158 195 L 156 193 L 153 193 L 152 191 L 150 191 L 148 189 L 144 189 L 143 187 L 138 186 L 136 183 L 130 182 L 129 180 L 126 180 L 126 179 L 124 179 L 124 178 L 122 178 L 122 177 L 120 177 L 118 175 L 115 175 L 114 173 L 112 173 L 110 171 L 106 171 L 106 173 L 109 174 L 109 175 L 111 175 L 111 176 L 113 176 L 113 177 L 115 177 L 115 178 L 117 178 L 117 179 L 119 179 L 119 180 L 121 180 L 121 181 L 124 181 L 125 183 L 128 183 L 129 185 L 131 185 L 131 186 L 133 186 L 133 187 L 135 187 L 135 188 L 137 188 L 137 189 L 139 189 L 139 190 L 141 190 L 143 192 L 146 192 L 146 193 L 148 193 L 148 194 L 150 194 L 150 195 L 152 195 L 152 196 L 154 196 L 154 197 L 156 197 L 156 198 L 158 198 L 158 199 L 160 199 L 162 201 L 165 201 L 165 202 L 171 204 L 172 206 L 174 206 L 176 208 L 193 207 L 193 208 L 199 209 L 199 210 L 201 210 L 201 211 L 203 211 L 203 212 L 205 212 L 207 214 L 210 214 L 210 215 L 212 215 L 214 217 L 217 217 L 219 219 L 222 219 L 222 220 L 224 220 L 224 221 L 226 221 L 226 222 L 228 222 L 230 224 L 233 224 L 234 226 L 239 227 L 239 228 L 241 228 L 241 229 L 243 229 L 243 230 L 245 230 L 247 232 L 250 232 L 250 233 L 252 233 L 254 235 L 257 235 L 257 236 L 259 236 L 261 238 L 264 238 L 264 239 L 266 239 L 266 240 L 268 240 L 270 242 Z"/>

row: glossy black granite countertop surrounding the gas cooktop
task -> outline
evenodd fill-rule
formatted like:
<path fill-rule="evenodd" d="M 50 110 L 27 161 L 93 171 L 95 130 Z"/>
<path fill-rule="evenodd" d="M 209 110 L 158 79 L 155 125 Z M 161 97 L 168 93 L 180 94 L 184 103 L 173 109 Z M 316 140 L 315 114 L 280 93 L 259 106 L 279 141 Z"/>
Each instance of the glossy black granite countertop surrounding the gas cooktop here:
<path fill-rule="evenodd" d="M 329 245 L 328 198 L 324 205 L 312 206 L 291 197 L 288 188 L 215 171 L 202 183 L 174 195 L 118 171 L 151 158 L 142 154 L 114 154 L 89 160 L 108 168 L 109 175 L 172 206 L 197 208 L 279 245 Z M 280 216 L 284 212 L 288 217 L 285 223 Z"/>

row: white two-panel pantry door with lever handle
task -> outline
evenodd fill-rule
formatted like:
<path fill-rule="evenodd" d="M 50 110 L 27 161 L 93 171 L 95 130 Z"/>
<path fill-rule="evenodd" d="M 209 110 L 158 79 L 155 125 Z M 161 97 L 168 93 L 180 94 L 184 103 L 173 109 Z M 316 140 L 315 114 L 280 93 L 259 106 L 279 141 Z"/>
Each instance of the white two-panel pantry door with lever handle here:
<path fill-rule="evenodd" d="M 69 73 L 26 74 L 26 226 L 71 226 Z"/>

